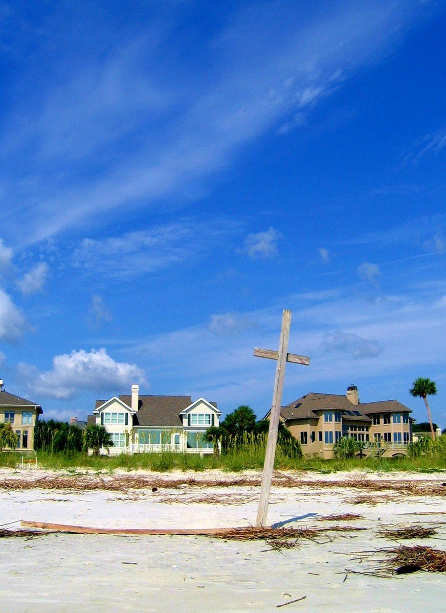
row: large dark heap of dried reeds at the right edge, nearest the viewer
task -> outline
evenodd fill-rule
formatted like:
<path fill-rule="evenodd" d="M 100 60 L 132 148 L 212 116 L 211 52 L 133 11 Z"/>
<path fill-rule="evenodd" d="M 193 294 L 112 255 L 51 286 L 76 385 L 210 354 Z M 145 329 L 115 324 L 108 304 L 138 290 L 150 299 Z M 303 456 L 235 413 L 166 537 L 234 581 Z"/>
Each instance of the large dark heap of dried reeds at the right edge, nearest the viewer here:
<path fill-rule="evenodd" d="M 377 556 L 385 558 L 377 559 Z M 412 547 L 401 545 L 399 547 L 386 547 L 375 551 L 362 552 L 359 558 L 353 560 L 371 560 L 374 566 L 364 571 L 347 569 L 349 573 L 366 574 L 377 577 L 391 577 L 394 574 L 409 574 L 417 571 L 430 573 L 446 573 L 446 551 L 414 545 Z"/>

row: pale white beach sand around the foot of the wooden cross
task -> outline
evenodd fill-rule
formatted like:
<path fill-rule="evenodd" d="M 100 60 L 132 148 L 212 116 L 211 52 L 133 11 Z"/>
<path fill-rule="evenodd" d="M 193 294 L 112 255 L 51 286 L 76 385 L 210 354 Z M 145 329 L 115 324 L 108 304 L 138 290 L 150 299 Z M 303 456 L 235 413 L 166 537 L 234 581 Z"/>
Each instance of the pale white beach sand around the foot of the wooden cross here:
<path fill-rule="evenodd" d="M 36 479 L 43 471 L 0 471 L 0 524 L 20 520 L 110 528 L 193 528 L 252 525 L 258 487 L 215 487 L 227 473 L 193 474 L 199 485 L 125 492 L 48 489 L 5 490 L 7 478 Z M 64 473 L 67 474 L 67 473 Z M 127 474 L 127 473 L 126 473 Z M 248 478 L 258 478 L 250 471 Z M 157 475 L 158 476 L 158 475 Z M 175 479 L 174 473 L 167 478 Z M 331 541 L 302 541 L 271 550 L 264 541 L 224 541 L 202 536 L 108 536 L 52 534 L 0 539 L 0 611 L 280 611 L 330 613 L 440 613 L 445 611 L 446 576 L 415 573 L 390 579 L 347 573 L 364 571 L 354 552 L 398 543 L 378 538 L 383 527 L 436 525 L 437 535 L 404 544 L 446 548 L 445 497 L 372 494 L 375 506 L 353 504 L 366 490 L 342 487 L 352 479 L 402 479 L 441 485 L 445 474 L 336 473 L 299 475 L 305 481 L 336 481 L 339 487 L 286 488 L 271 492 L 271 525 L 320 527 L 318 517 L 351 512 L 347 522 L 365 531 L 331 534 Z M 237 473 L 240 478 L 240 473 Z M 445 487 L 446 489 L 446 487 Z M 209 500 L 206 504 L 203 500 Z M 218 500 L 215 503 L 215 500 Z M 419 515 L 418 513 L 423 513 Z M 430 513 L 427 515 L 426 513 Z M 339 522 L 337 522 L 339 524 Z M 347 579 L 345 577 L 347 576 Z"/>

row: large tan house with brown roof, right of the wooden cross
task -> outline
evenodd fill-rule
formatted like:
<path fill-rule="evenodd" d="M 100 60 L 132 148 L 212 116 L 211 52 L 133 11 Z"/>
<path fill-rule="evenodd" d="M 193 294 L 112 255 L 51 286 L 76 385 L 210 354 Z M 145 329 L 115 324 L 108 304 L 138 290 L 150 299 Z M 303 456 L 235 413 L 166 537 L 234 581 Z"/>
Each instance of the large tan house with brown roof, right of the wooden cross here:
<path fill-rule="evenodd" d="M 364 455 L 393 457 L 406 454 L 412 442 L 410 413 L 398 400 L 359 403 L 358 388 L 352 384 L 346 395 L 306 394 L 282 406 L 280 418 L 305 455 L 332 458 L 334 444 L 341 436 L 351 436 L 364 443 Z"/>

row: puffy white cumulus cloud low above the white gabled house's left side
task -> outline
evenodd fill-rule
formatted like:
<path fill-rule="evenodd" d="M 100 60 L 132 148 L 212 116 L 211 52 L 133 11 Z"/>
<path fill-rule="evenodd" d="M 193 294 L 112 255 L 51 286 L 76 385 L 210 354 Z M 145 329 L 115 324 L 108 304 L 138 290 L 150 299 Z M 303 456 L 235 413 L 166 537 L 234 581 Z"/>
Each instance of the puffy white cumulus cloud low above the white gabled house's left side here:
<path fill-rule="evenodd" d="M 18 365 L 23 384 L 46 398 L 66 400 L 90 389 L 94 392 L 116 394 L 129 389 L 133 383 L 146 383 L 144 370 L 136 364 L 115 362 L 106 349 L 72 351 L 53 358 L 52 370 L 40 373 L 36 366 Z"/>

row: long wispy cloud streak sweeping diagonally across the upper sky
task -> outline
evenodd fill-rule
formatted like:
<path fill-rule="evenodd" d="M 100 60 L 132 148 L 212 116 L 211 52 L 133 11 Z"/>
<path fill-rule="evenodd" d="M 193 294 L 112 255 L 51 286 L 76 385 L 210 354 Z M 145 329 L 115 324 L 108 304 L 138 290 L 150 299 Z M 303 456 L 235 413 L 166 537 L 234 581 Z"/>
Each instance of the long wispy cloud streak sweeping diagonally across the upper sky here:
<path fill-rule="evenodd" d="M 65 81 L 48 77 L 42 103 L 9 116 L 1 139 L 16 161 L 13 175 L 0 177 L 9 232 L 21 227 L 21 242 L 35 242 L 107 210 L 174 195 L 181 206 L 241 145 L 278 122 L 296 123 L 296 113 L 380 56 L 420 15 L 412 2 L 343 2 L 302 23 L 298 7 L 286 6 L 245 7 L 206 40 L 197 51 L 212 63 L 206 79 L 160 61 L 173 34 L 157 34 L 156 20 L 137 40 L 121 36 L 100 64 L 90 59 Z M 47 72 L 64 74 L 57 65 Z"/>

